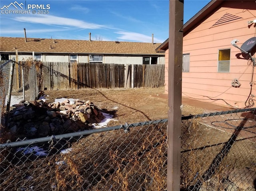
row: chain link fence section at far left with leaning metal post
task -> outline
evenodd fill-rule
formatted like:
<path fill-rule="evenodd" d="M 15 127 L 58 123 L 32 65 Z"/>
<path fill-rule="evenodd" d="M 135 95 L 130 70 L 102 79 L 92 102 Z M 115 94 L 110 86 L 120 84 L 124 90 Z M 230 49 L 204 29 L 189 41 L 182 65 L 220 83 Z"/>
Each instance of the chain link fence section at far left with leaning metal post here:
<path fill-rule="evenodd" d="M 13 64 L 13 65 L 12 65 Z M 36 100 L 38 83 L 36 65 L 29 61 L 15 62 L 14 60 L 0 62 L 0 124 L 1 131 L 3 114 L 20 101 Z"/>

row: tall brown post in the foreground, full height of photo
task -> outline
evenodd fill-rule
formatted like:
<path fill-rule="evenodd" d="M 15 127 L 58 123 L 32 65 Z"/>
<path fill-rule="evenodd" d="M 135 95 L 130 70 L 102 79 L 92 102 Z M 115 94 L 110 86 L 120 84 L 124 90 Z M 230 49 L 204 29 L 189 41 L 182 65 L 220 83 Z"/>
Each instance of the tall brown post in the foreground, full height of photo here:
<path fill-rule="evenodd" d="M 180 190 L 183 0 L 169 1 L 167 190 Z"/>

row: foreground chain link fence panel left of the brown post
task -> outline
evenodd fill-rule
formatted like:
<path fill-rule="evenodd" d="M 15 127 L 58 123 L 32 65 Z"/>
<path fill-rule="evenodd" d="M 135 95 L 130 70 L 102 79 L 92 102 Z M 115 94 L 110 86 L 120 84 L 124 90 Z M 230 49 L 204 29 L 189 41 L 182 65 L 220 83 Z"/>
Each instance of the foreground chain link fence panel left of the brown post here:
<path fill-rule="evenodd" d="M 0 152 L 0 186 L 33 191 L 163 190 L 166 126 L 167 120 L 159 120 L 90 135 L 52 136 L 42 143 L 7 143 Z"/>

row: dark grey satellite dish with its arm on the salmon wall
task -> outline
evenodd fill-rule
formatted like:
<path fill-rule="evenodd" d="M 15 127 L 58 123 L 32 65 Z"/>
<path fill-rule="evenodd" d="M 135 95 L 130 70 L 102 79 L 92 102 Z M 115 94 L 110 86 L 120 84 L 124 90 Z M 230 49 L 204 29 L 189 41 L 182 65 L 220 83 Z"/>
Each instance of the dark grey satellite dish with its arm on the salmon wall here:
<path fill-rule="evenodd" d="M 245 41 L 245 42 L 242 44 L 241 47 L 238 47 L 238 45 L 236 45 L 237 42 L 239 42 L 239 40 L 238 40 L 238 39 L 234 39 L 234 40 L 231 41 L 231 44 L 232 44 L 234 47 L 240 49 L 240 51 L 241 51 L 242 53 L 249 54 L 249 55 L 250 55 L 250 59 L 251 59 L 253 65 L 256 66 L 256 61 L 255 61 L 255 59 L 254 59 L 254 58 L 252 57 L 252 55 L 251 55 L 251 50 L 252 50 L 253 47 L 256 45 L 256 37 L 252 37 L 252 38 L 248 39 L 247 41 Z"/>

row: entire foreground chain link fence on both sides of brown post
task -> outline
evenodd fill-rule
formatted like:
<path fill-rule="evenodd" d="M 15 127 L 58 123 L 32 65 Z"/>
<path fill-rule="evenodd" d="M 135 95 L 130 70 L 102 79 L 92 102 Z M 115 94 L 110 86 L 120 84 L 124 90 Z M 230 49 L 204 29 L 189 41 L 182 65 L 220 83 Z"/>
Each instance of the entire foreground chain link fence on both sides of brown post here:
<path fill-rule="evenodd" d="M 255 110 L 182 117 L 181 190 L 255 190 Z M 167 124 L 1 144 L 1 190 L 164 191 Z"/>

